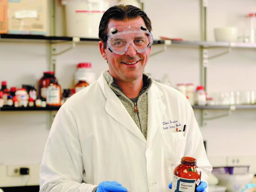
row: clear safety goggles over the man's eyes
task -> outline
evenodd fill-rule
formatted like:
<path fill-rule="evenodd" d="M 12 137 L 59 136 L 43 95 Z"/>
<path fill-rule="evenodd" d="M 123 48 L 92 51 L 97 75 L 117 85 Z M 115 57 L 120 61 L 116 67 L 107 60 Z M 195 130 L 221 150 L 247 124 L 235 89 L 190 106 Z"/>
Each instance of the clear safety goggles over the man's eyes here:
<path fill-rule="evenodd" d="M 138 53 L 148 50 L 153 44 L 153 35 L 144 26 L 114 26 L 108 30 L 107 46 L 110 51 L 123 55 L 130 44 Z"/>

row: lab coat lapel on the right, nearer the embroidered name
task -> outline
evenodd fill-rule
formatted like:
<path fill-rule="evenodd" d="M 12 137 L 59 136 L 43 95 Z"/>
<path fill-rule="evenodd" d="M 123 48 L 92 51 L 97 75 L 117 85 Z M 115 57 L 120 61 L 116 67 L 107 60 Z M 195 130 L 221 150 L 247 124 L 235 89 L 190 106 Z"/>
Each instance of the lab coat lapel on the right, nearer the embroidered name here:
<path fill-rule="evenodd" d="M 165 112 L 165 104 L 161 100 L 163 92 L 160 91 L 155 84 L 148 92 L 148 135 L 147 135 L 147 149 L 152 144 L 155 133 L 161 125 L 161 120 Z"/>

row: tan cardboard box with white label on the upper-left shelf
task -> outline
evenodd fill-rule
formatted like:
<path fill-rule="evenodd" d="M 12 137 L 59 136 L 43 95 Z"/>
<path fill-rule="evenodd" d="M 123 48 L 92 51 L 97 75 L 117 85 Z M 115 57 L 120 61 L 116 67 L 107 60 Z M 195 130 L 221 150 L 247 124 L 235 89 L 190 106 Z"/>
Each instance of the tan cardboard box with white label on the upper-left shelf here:
<path fill-rule="evenodd" d="M 8 33 L 46 35 L 48 0 L 8 0 Z"/>

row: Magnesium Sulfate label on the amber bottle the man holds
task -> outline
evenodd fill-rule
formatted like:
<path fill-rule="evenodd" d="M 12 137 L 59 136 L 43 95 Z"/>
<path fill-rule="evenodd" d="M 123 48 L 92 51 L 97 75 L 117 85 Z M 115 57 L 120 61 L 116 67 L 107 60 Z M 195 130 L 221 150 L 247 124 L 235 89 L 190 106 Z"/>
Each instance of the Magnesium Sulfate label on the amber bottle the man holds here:
<path fill-rule="evenodd" d="M 172 192 L 195 192 L 195 187 L 195 179 L 184 179 L 175 175 L 173 176 L 171 187 Z"/>

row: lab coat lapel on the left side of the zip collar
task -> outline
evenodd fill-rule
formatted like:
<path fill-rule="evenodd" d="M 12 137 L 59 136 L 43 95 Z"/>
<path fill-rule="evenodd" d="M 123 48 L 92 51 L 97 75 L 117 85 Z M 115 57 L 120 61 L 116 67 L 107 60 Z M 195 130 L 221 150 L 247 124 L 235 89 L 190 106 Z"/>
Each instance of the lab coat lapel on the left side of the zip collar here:
<path fill-rule="evenodd" d="M 133 121 L 130 114 L 127 112 L 126 108 L 123 106 L 123 103 L 107 85 L 103 73 L 101 74 L 98 82 L 101 86 L 101 90 L 103 91 L 104 96 L 107 99 L 105 106 L 107 113 L 112 116 L 118 123 L 122 124 L 123 127 L 127 128 L 132 134 L 146 143 L 146 139 L 144 138 L 136 123 Z M 120 126 L 120 128 L 122 127 Z"/>

